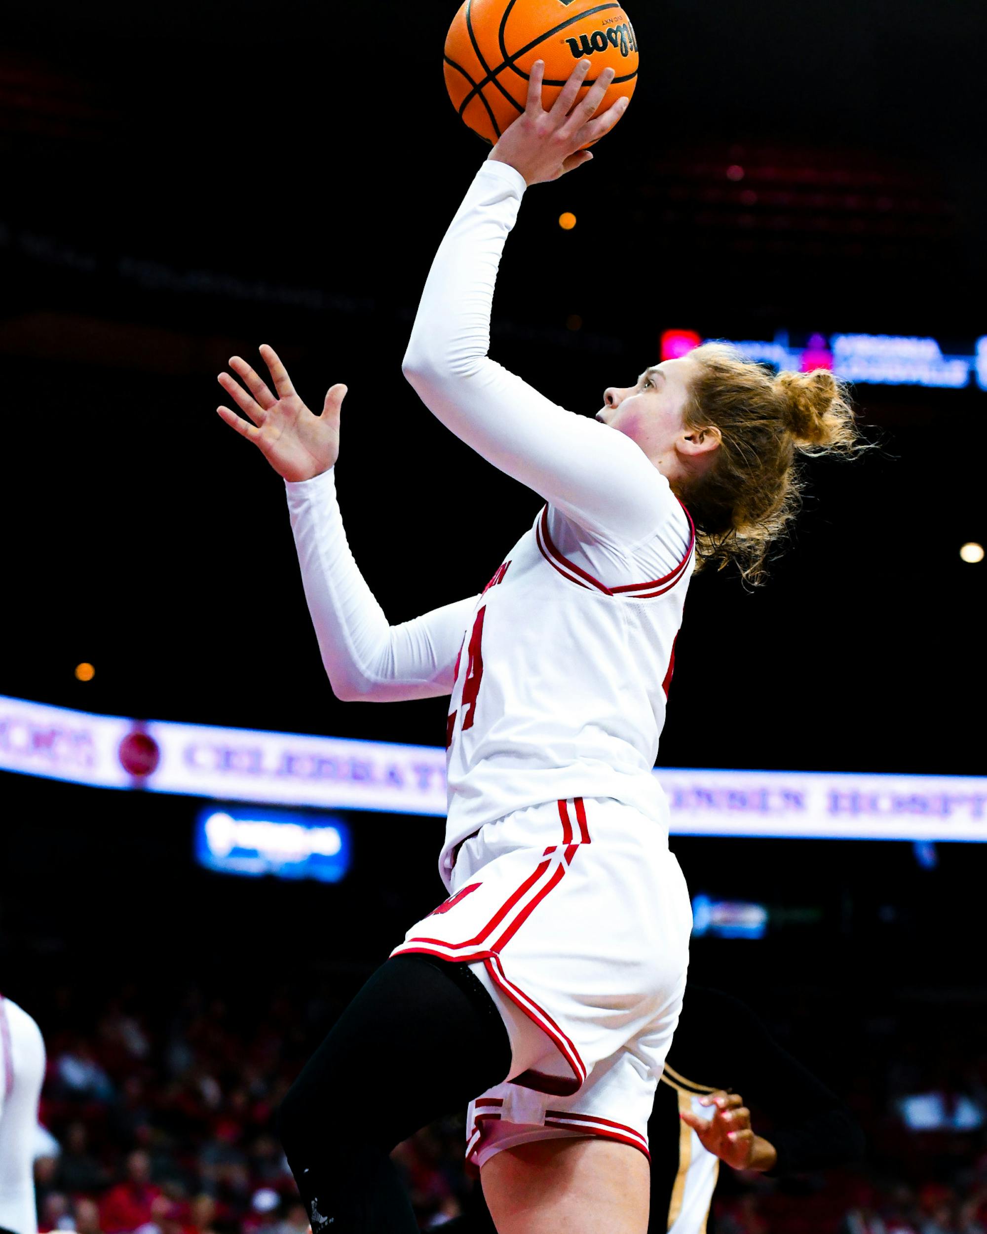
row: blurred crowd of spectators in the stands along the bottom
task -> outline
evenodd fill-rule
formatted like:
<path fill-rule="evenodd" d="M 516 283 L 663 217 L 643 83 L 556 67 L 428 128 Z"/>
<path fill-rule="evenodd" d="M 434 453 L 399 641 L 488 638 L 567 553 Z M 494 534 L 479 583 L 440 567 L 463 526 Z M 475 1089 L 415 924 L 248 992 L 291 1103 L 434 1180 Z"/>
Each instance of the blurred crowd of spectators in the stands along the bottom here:
<path fill-rule="evenodd" d="M 85 1008 L 68 988 L 52 992 L 37 1013 L 48 1048 L 39 1229 L 306 1234 L 274 1114 L 339 1006 L 287 988 L 229 1001 L 134 986 Z M 957 1070 L 955 1053 L 930 1062 L 906 1040 L 893 1061 L 878 1056 L 841 1091 L 869 1135 L 867 1161 L 780 1181 L 723 1170 L 717 1234 L 987 1234 L 987 1054 L 967 1051 Z M 422 1229 L 461 1211 L 473 1186 L 461 1149 L 450 1116 L 395 1153 Z"/>

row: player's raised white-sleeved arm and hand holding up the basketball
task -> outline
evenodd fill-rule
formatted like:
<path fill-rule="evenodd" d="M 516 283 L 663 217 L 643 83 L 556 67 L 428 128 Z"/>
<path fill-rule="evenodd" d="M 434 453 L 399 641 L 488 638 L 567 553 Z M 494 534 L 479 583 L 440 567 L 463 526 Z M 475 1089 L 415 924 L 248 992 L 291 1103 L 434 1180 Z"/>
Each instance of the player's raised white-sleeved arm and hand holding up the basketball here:
<path fill-rule="evenodd" d="M 669 517 L 685 523 L 665 479 L 630 438 L 556 406 L 487 355 L 497 269 L 526 186 L 587 162 L 580 147 L 623 110 L 617 104 L 591 118 L 607 69 L 568 117 L 587 63 L 550 111 L 542 107 L 542 68 L 533 68 L 526 114 L 476 174 L 438 249 L 403 371 L 426 406 L 485 459 L 596 534 L 628 543 Z"/>

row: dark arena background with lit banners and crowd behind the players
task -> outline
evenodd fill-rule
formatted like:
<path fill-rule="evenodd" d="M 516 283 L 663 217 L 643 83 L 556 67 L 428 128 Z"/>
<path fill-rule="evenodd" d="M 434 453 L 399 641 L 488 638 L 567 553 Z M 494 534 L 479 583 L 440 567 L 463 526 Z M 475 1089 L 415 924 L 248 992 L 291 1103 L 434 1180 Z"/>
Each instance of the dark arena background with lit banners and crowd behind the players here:
<path fill-rule="evenodd" d="M 283 484 L 215 407 L 262 342 L 312 406 L 348 384 L 341 503 L 392 622 L 480 590 L 529 526 L 539 499 L 401 375 L 486 153 L 443 86 L 454 11 L 5 12 L 0 990 L 47 1044 L 42 1230 L 304 1234 L 274 1111 L 445 895 L 445 701 L 333 697 Z M 811 462 L 767 585 L 702 573 L 679 640 L 691 977 L 867 1139 L 825 1175 L 724 1167 L 709 1228 L 983 1234 L 987 10 L 628 11 L 633 104 L 527 195 L 491 354 L 591 415 L 729 339 L 855 378 L 875 444 Z M 279 824 L 321 855 L 285 866 Z M 461 1138 L 450 1111 L 397 1151 L 423 1229 L 464 1202 Z"/>

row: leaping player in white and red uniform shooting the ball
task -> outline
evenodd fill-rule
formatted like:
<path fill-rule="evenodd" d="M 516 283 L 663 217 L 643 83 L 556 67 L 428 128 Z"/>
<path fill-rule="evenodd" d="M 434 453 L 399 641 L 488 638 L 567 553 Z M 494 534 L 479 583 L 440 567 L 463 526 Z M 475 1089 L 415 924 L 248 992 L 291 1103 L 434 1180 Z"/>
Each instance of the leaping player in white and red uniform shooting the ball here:
<path fill-rule="evenodd" d="M 313 416 L 266 347 L 275 392 L 236 357 L 247 389 L 220 378 L 248 420 L 220 415 L 287 481 L 336 694 L 452 700 L 449 898 L 360 991 L 280 1112 L 315 1234 L 413 1230 L 387 1155 L 470 1098 L 469 1156 L 501 1234 L 645 1230 L 648 1118 L 691 927 L 651 769 L 693 558 L 756 571 L 792 506 L 796 449 L 853 434 L 830 374 L 772 379 L 724 349 L 609 387 L 596 421 L 487 358 L 523 193 L 588 162 L 582 147 L 623 110 L 595 115 L 611 70 L 577 102 L 586 73 L 581 62 L 545 111 L 533 68 L 524 115 L 438 251 L 405 358 L 432 413 L 545 501 L 481 595 L 391 628 L 336 500 L 345 386 Z M 634 285 L 650 278 L 642 262 Z"/>

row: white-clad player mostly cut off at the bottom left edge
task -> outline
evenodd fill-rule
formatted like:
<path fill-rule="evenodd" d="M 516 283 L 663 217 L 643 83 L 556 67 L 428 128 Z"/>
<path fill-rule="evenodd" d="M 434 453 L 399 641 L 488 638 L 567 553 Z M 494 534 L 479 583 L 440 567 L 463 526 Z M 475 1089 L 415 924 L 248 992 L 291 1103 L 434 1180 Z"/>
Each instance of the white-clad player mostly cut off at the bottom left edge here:
<path fill-rule="evenodd" d="M 35 1132 L 44 1041 L 35 1021 L 0 995 L 0 1234 L 37 1234 Z"/>

